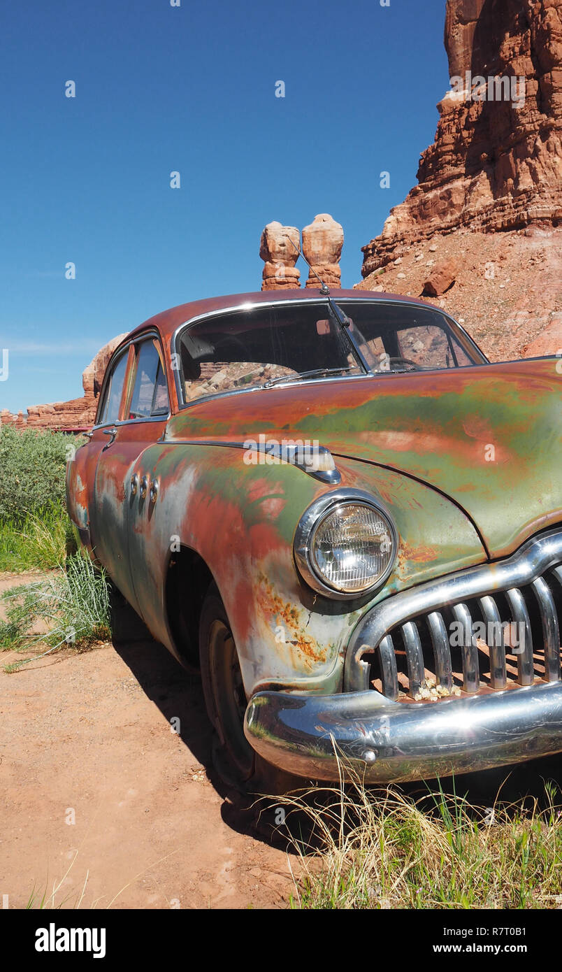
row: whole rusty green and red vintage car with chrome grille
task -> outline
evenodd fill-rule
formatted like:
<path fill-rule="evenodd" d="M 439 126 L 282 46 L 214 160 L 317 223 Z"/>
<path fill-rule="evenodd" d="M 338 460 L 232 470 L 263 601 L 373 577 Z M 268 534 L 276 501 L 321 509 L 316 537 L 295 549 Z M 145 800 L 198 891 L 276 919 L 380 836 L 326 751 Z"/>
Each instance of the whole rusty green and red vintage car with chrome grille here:
<path fill-rule="evenodd" d="M 217 754 L 408 781 L 562 750 L 560 359 L 388 294 L 201 300 L 115 351 L 67 469 Z"/>

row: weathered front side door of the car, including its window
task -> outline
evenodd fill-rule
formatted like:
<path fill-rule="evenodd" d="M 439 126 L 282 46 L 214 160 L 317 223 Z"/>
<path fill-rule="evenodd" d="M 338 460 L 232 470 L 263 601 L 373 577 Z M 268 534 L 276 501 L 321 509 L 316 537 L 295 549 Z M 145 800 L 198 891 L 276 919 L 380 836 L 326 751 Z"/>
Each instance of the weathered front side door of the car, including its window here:
<path fill-rule="evenodd" d="M 101 449 L 95 470 L 94 536 L 97 557 L 139 613 L 130 550 L 130 520 L 142 496 L 142 476 L 135 469 L 146 448 L 163 433 L 169 415 L 167 385 L 158 334 L 142 332 L 126 350 L 126 373 L 117 417 L 105 422 L 108 441 Z M 109 412 L 105 418 L 113 418 Z M 148 492 L 148 489 L 147 489 Z"/>

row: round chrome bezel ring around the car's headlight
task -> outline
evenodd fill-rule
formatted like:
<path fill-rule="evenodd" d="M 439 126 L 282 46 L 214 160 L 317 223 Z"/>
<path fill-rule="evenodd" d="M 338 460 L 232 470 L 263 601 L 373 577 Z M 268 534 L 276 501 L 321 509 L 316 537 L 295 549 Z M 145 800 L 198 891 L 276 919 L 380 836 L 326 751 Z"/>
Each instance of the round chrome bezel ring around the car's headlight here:
<path fill-rule="evenodd" d="M 376 580 L 369 585 L 369 587 L 364 588 L 362 591 L 345 591 L 333 587 L 318 573 L 315 568 L 313 545 L 320 525 L 324 522 L 327 516 L 330 516 L 337 510 L 337 507 L 341 507 L 343 509 L 347 505 L 363 505 L 374 510 L 383 518 L 384 522 L 388 524 L 389 533 L 392 539 L 392 554 L 385 572 L 377 577 Z M 382 587 L 384 583 L 386 583 L 394 569 L 398 554 L 398 546 L 398 531 L 390 513 L 382 503 L 380 503 L 375 497 L 371 496 L 370 493 L 366 493 L 364 490 L 340 489 L 334 490 L 333 493 L 326 493 L 324 496 L 319 497 L 318 500 L 315 500 L 314 503 L 311 503 L 310 506 L 304 510 L 299 519 L 299 524 L 295 533 L 295 562 L 303 580 L 305 580 L 308 586 L 311 587 L 313 591 L 316 591 L 317 594 L 322 594 L 325 597 L 329 597 L 337 601 L 357 601 L 360 598 L 365 598 L 368 595 L 372 595 L 376 590 Z"/>

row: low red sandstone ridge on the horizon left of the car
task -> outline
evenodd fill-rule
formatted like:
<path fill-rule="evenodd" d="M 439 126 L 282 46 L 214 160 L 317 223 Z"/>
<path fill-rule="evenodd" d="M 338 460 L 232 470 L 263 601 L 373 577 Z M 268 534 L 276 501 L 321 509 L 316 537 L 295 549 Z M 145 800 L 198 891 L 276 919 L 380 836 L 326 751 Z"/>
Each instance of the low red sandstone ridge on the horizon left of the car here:
<path fill-rule="evenodd" d="M 0 425 L 15 425 L 17 429 L 64 429 L 69 432 L 87 430 L 93 425 L 97 399 L 105 369 L 125 334 L 112 338 L 97 352 L 82 375 L 84 396 L 70 401 L 53 401 L 47 405 L 29 405 L 27 416 L 23 412 L 13 415 L 8 409 L 0 412 Z"/>

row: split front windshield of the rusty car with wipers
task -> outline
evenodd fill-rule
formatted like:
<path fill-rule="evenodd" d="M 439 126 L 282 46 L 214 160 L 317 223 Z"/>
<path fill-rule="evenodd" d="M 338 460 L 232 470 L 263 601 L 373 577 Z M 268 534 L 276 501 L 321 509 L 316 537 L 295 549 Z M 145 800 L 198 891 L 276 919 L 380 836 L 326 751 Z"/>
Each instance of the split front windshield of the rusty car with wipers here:
<path fill-rule="evenodd" d="M 176 361 L 188 403 L 292 382 L 465 367 L 486 359 L 431 307 L 303 300 L 257 303 L 188 324 L 177 336 Z"/>

